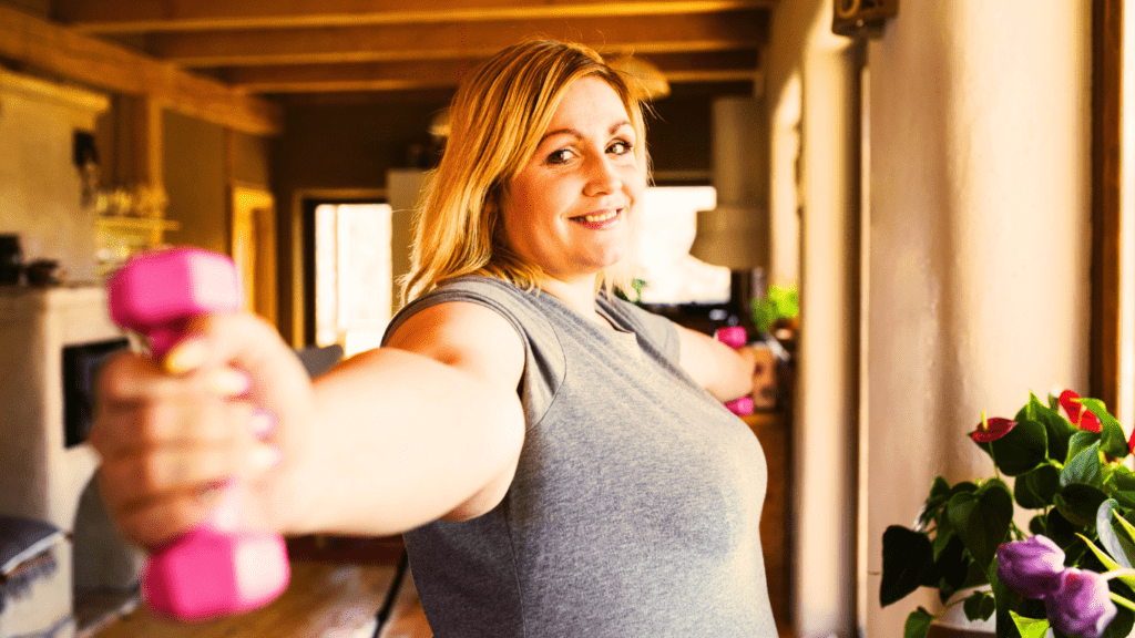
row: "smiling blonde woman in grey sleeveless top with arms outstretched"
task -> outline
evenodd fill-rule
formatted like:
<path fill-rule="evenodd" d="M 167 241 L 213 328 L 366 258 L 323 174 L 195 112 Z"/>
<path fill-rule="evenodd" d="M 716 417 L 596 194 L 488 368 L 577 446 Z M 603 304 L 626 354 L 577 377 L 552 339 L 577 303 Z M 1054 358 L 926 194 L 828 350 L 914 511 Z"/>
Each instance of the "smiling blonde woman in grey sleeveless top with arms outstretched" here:
<path fill-rule="evenodd" d="M 644 133 L 589 49 L 488 60 L 454 98 L 414 301 L 384 347 L 311 384 L 270 327 L 230 314 L 160 367 L 108 366 L 92 442 L 116 520 L 154 546 L 238 476 L 249 524 L 405 532 L 439 637 L 775 636 L 764 459 L 720 403 L 753 361 L 611 295 Z"/>

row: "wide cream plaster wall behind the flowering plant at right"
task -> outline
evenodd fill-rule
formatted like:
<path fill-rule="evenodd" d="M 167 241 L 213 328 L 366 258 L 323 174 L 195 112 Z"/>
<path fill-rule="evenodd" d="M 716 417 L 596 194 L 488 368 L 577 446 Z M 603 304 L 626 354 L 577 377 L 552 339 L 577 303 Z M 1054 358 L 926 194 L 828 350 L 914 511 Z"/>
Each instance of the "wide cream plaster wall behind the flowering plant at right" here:
<path fill-rule="evenodd" d="M 934 476 L 992 468 L 965 436 L 1032 391 L 1085 388 L 1088 0 L 905 2 L 871 69 L 866 635 L 882 534 Z"/>

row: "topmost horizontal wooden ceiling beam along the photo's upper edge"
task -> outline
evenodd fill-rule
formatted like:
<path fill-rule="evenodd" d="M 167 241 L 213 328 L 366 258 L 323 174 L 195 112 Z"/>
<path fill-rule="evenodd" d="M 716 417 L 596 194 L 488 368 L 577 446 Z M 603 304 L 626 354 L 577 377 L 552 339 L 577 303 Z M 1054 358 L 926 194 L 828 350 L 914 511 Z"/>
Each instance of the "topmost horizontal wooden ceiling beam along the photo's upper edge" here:
<path fill-rule="evenodd" d="M 772 9 L 776 0 L 54 0 L 84 33 L 288 28 L 413 22 L 646 16 Z"/>

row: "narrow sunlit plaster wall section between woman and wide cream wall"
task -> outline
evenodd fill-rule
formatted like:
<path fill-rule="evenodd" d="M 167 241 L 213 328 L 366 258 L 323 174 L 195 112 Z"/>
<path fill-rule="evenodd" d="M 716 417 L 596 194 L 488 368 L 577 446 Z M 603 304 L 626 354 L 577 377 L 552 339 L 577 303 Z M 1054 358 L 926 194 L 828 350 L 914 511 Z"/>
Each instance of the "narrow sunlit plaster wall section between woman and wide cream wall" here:
<path fill-rule="evenodd" d="M 855 627 L 855 69 L 831 15 L 830 0 L 777 5 L 766 57 L 772 277 L 800 286 L 792 615 L 804 638 Z"/>

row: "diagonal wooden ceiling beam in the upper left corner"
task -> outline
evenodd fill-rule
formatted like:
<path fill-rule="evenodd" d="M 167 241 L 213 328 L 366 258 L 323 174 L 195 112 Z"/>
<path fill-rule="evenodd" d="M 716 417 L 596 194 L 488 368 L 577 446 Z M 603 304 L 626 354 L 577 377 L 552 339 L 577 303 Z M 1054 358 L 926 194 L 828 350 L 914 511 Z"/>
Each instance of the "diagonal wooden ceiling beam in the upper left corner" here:
<path fill-rule="evenodd" d="M 245 133 L 274 135 L 283 127 L 279 107 L 261 98 L 3 6 L 0 58 L 104 91 L 145 95 Z"/>

